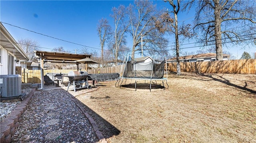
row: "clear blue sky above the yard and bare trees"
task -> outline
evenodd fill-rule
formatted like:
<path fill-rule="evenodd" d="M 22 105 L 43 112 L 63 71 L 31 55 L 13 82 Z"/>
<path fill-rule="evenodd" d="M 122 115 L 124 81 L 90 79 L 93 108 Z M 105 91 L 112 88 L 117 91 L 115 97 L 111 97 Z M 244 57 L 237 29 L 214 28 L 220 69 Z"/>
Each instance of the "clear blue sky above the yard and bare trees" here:
<path fill-rule="evenodd" d="M 159 9 L 170 8 L 168 3 L 160 0 L 153 1 Z M 44 35 L 56 37 L 73 43 L 86 45 L 100 49 L 100 41 L 97 35 L 97 24 L 101 18 L 107 18 L 112 23 L 110 14 L 113 7 L 120 4 L 128 6 L 133 1 L 128 0 L 85 0 L 85 1 L 0 1 L 0 21 L 12 24 L 24 29 L 29 29 Z M 178 20 L 191 23 L 193 20 L 193 11 L 180 13 Z M 9 33 L 18 41 L 21 38 L 30 38 L 37 40 L 42 51 L 51 51 L 55 47 L 64 47 L 65 50 L 75 52 L 80 49 L 80 45 L 67 43 L 43 35 L 39 35 L 24 29 L 3 24 Z M 174 37 L 170 37 L 171 40 Z M 132 46 L 132 41 L 128 41 L 128 47 Z M 192 45 L 193 46 L 193 45 Z M 188 45 L 184 45 L 188 47 Z M 182 51 L 196 51 L 199 47 L 184 49 Z M 230 50 L 232 54 L 241 57 L 244 49 L 240 47 Z M 100 54 L 100 50 L 94 49 Z M 256 48 L 246 50 L 249 53 L 256 51 Z M 79 52 L 79 51 L 78 51 Z"/>

